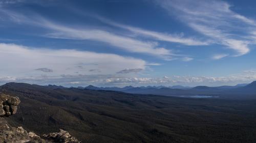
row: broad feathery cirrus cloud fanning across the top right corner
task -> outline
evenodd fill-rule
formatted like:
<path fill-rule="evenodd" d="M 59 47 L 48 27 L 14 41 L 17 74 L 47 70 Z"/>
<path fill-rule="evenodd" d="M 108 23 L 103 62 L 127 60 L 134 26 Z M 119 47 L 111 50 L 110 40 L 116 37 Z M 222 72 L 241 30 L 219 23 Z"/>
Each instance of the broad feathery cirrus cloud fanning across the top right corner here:
<path fill-rule="evenodd" d="M 222 44 L 236 51 L 233 56 L 250 52 L 249 44 L 254 40 L 250 36 L 256 22 L 230 10 L 223 1 L 157 1 L 161 7 L 173 16 L 177 16 L 195 31 L 210 37 L 212 42 Z"/>

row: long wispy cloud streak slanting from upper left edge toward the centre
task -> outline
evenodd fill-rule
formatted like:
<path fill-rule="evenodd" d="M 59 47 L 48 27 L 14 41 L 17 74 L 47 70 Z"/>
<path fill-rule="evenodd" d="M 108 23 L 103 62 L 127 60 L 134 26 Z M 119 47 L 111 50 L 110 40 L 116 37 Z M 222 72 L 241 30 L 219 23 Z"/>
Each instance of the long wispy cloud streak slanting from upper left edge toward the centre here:
<path fill-rule="evenodd" d="M 0 12 L 8 20 L 48 29 L 50 32 L 42 34 L 44 37 L 98 41 L 127 52 L 152 55 L 164 60 L 172 60 L 175 56 L 182 56 L 175 54 L 170 49 L 161 47 L 155 40 L 140 40 L 139 38 L 123 36 L 100 28 L 74 28 L 72 26 L 58 24 L 36 14 L 25 16 L 6 9 L 2 9 Z"/>

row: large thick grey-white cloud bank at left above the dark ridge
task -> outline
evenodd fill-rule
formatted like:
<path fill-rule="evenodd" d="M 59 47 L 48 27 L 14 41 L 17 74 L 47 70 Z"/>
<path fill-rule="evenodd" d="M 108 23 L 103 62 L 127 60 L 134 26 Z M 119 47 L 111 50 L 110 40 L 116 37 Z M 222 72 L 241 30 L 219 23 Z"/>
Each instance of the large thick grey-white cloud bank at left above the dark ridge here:
<path fill-rule="evenodd" d="M 33 49 L 31 47 L 0 43 L 0 66 L 3 77 L 31 77 L 47 74 L 115 74 L 125 68 L 145 69 L 144 60 L 122 57 L 116 54 L 94 53 L 76 50 Z M 79 68 L 83 66 L 84 68 Z M 45 72 L 41 72 L 45 71 Z"/>

